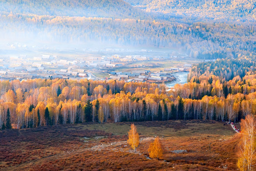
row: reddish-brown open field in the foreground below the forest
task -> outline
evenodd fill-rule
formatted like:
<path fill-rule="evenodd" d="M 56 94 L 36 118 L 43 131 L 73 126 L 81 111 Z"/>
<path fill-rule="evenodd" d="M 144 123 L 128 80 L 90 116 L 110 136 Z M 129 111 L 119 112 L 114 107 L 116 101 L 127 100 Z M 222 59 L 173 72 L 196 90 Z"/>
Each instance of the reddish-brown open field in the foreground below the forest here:
<path fill-rule="evenodd" d="M 140 144 L 127 143 L 130 123 L 83 123 L 0 131 L 0 171 L 236 170 L 239 135 L 230 125 L 204 121 L 135 123 Z M 165 152 L 150 160 L 159 136 Z M 174 150 L 186 150 L 174 153 Z"/>

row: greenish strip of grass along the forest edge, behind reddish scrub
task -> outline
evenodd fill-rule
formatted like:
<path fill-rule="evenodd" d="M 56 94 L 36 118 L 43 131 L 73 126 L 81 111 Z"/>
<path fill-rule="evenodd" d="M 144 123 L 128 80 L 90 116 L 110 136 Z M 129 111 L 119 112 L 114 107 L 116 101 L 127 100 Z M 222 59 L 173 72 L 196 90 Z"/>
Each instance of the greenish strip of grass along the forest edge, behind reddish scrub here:
<path fill-rule="evenodd" d="M 130 129 L 131 123 L 103 123 L 103 124 L 83 124 L 82 129 L 102 130 L 114 135 L 124 135 Z M 203 121 L 154 121 L 137 122 L 138 133 L 143 136 L 185 136 L 196 134 L 214 134 L 214 135 L 234 135 L 229 125 L 223 125 L 221 122 L 203 122 Z M 224 129 L 225 128 L 225 129 Z"/>

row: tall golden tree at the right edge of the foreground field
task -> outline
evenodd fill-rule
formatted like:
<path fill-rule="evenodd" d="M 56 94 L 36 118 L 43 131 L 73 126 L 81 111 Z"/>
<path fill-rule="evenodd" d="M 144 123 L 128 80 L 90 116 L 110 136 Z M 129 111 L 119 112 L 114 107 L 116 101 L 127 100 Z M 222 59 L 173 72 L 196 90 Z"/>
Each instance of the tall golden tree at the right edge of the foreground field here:
<path fill-rule="evenodd" d="M 241 121 L 242 143 L 237 166 L 240 171 L 255 171 L 256 169 L 256 118 L 247 115 Z"/>

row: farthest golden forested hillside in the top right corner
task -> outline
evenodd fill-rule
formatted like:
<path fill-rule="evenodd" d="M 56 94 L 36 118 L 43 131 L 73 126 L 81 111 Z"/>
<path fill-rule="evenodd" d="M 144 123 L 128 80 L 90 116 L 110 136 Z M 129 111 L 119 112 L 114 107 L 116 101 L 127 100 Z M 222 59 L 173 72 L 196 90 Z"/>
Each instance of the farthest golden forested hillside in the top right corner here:
<path fill-rule="evenodd" d="M 147 11 L 205 17 L 252 17 L 256 0 L 125 0 Z"/>

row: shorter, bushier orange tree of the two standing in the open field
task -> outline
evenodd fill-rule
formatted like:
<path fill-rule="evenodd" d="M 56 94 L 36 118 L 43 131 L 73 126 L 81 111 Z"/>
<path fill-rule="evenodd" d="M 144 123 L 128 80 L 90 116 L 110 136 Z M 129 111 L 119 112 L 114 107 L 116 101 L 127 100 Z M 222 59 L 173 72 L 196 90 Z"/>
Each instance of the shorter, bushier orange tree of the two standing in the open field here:
<path fill-rule="evenodd" d="M 159 137 L 156 137 L 154 142 L 150 143 L 148 152 L 149 157 L 152 159 L 158 159 L 163 156 L 163 148 Z"/>

